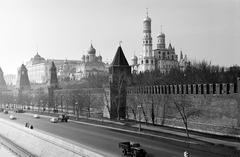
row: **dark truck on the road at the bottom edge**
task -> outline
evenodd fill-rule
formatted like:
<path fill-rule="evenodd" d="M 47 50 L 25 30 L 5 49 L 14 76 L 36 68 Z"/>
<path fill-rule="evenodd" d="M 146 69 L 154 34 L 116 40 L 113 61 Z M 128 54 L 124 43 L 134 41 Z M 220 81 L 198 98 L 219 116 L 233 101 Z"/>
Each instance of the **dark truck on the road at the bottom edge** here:
<path fill-rule="evenodd" d="M 145 157 L 146 151 L 141 148 L 139 143 L 134 142 L 120 142 L 119 148 L 122 149 L 124 156 Z"/>

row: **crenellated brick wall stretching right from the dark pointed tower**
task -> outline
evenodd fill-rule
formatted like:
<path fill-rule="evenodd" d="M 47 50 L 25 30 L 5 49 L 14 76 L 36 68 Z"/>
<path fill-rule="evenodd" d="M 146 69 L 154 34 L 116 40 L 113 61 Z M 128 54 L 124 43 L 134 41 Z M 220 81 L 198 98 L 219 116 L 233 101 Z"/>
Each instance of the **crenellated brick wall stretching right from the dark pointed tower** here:
<path fill-rule="evenodd" d="M 239 78 L 237 84 L 128 87 L 128 118 L 138 120 L 140 117 L 143 122 L 184 127 L 175 104 L 183 99 L 190 104 L 186 110 L 197 113 L 188 118 L 190 129 L 240 136 Z"/>

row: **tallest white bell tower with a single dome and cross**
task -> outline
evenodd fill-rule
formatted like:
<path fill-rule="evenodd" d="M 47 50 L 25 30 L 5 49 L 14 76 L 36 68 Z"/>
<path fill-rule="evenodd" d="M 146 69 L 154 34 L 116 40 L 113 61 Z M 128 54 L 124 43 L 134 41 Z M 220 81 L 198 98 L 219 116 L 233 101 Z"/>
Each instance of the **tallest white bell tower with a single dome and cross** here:
<path fill-rule="evenodd" d="M 151 36 L 151 18 L 147 16 L 143 20 L 143 49 L 139 58 L 139 71 L 152 71 L 155 69 L 155 59 L 152 53 L 152 36 Z"/>

